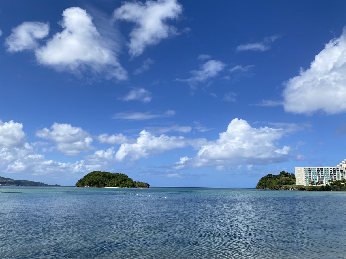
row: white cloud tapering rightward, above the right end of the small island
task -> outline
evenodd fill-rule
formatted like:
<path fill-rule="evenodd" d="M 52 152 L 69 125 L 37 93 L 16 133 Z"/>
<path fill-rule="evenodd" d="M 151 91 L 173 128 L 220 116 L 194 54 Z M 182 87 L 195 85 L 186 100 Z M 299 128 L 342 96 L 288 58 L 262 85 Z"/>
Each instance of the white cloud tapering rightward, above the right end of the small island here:
<path fill-rule="evenodd" d="M 141 131 L 136 143 L 121 144 L 115 158 L 118 161 L 123 161 L 125 158 L 134 161 L 140 158 L 146 158 L 149 155 L 161 154 L 164 151 L 186 146 L 198 146 L 206 141 L 201 139 L 188 139 L 182 136 L 167 136 L 161 134 L 156 137 L 148 131 Z"/>

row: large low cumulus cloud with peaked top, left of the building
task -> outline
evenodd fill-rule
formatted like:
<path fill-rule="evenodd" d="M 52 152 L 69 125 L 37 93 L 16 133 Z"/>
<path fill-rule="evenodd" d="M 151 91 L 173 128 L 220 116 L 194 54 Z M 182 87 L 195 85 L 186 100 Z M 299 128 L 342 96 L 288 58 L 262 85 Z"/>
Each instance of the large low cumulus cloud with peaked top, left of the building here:
<path fill-rule="evenodd" d="M 218 140 L 209 141 L 199 148 L 195 157 L 185 157 L 173 167 L 280 163 L 289 158 L 289 146 L 277 147 L 277 141 L 286 133 L 283 128 L 253 128 L 246 121 L 235 118 L 227 131 L 219 134 Z"/>

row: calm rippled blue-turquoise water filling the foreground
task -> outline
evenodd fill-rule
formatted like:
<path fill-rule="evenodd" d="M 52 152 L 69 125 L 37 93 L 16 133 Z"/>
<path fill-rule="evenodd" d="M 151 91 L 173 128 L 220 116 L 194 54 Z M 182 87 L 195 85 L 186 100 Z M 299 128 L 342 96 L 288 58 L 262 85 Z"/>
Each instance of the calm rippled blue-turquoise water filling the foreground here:
<path fill-rule="evenodd" d="M 345 247 L 346 192 L 0 187 L 0 258 L 346 258 Z"/>

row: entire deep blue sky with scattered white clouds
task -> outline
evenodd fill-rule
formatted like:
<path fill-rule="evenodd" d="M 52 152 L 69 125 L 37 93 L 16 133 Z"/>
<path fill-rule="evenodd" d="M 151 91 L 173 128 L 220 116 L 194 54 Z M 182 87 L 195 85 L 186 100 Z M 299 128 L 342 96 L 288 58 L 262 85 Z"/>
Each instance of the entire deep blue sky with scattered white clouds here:
<path fill-rule="evenodd" d="M 0 176 L 254 188 L 336 166 L 346 2 L 2 1 Z"/>

